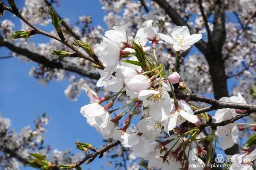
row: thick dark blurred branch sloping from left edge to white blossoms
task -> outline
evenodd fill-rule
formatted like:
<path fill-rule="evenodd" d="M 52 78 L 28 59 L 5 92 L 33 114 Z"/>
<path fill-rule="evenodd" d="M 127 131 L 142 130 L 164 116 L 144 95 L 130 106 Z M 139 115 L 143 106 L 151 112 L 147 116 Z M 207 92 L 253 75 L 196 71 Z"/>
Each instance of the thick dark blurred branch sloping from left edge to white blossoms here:
<path fill-rule="evenodd" d="M 49 67 L 52 69 L 55 69 L 55 68 L 63 69 L 63 70 L 71 71 L 71 72 L 77 73 L 79 75 L 86 76 L 86 77 L 93 78 L 93 79 L 100 78 L 100 76 L 98 74 L 88 73 L 86 70 L 78 68 L 75 65 L 70 65 L 68 63 L 63 64 L 63 63 L 57 62 L 57 61 L 50 61 L 43 55 L 39 55 L 39 54 L 31 52 L 25 48 L 17 47 L 7 41 L 4 41 L 1 36 L 0 36 L 0 46 L 7 47 L 11 51 L 13 51 L 19 55 L 24 55 L 36 63 L 43 64 L 45 67 Z"/>

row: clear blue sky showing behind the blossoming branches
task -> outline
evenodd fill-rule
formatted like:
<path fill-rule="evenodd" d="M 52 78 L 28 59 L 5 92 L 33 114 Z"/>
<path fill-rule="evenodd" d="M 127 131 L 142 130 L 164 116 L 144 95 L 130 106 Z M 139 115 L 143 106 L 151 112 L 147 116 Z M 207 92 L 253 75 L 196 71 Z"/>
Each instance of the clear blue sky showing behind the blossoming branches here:
<path fill-rule="evenodd" d="M 74 24 L 78 20 L 78 16 L 91 15 L 93 18 L 92 26 L 101 25 L 105 30 L 106 24 L 103 21 L 105 15 L 101 9 L 101 4 L 97 0 L 62 0 L 60 7 L 56 10 L 60 16 L 69 18 Z M 5 4 L 7 0 L 4 0 Z M 16 1 L 17 6 L 24 6 L 24 1 Z M 14 22 L 14 30 L 20 29 L 20 20 L 13 17 L 12 14 L 6 12 L 0 20 L 10 19 Z M 53 30 L 53 26 L 40 26 L 45 31 Z M 48 38 L 35 35 L 30 41 L 36 43 L 47 42 Z M 194 53 L 196 48 L 191 52 Z M 8 55 L 9 50 L 0 48 L 0 56 Z M 80 114 L 80 107 L 88 103 L 88 98 L 85 93 L 81 93 L 76 102 L 68 100 L 64 95 L 64 90 L 69 85 L 68 80 L 57 82 L 51 81 L 47 86 L 43 86 L 38 81 L 28 76 L 32 66 L 37 66 L 36 63 L 26 63 L 16 58 L 0 60 L 0 113 L 3 117 L 9 117 L 12 123 L 12 128 L 17 132 L 24 126 L 30 125 L 33 127 L 33 120 L 37 115 L 46 112 L 47 117 L 51 118 L 48 129 L 45 135 L 45 144 L 50 144 L 52 149 L 60 151 L 71 149 L 73 153 L 78 150 L 75 148 L 77 139 L 82 142 L 91 143 L 96 147 L 104 144 L 102 137 L 94 128 L 86 123 L 86 119 Z M 229 91 L 231 91 L 233 80 L 229 80 Z M 208 95 L 211 96 L 212 95 Z M 103 158 L 102 158 L 103 159 Z M 84 169 L 100 169 L 106 167 L 102 159 L 95 159 L 89 165 L 84 166 Z M 31 169 L 29 167 L 22 169 Z"/>

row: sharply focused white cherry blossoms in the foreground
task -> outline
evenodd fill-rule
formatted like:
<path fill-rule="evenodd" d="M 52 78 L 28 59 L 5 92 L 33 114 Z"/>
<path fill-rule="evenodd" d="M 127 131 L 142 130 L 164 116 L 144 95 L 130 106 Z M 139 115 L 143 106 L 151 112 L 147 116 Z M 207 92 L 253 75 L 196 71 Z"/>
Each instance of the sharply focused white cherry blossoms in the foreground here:
<path fill-rule="evenodd" d="M 189 92 L 186 85 L 180 82 L 177 63 L 175 72 L 169 70 L 170 75 L 167 76 L 163 63 L 158 64 L 156 57 L 156 46 L 163 43 L 161 39 L 172 44 L 178 58 L 180 50 L 190 48 L 202 38 L 202 34 L 190 35 L 188 27 L 177 26 L 168 36 L 159 33 L 158 27 L 153 27 L 152 23 L 148 20 L 146 27 L 138 30 L 131 43 L 122 27 L 114 26 L 113 30 L 105 32 L 103 42 L 94 48 L 105 67 L 97 69 L 101 76 L 97 86 L 113 94 L 100 97 L 84 84 L 90 104 L 83 106 L 80 112 L 105 139 L 118 140 L 124 147 L 131 147 L 135 156 L 149 160 L 149 168 L 179 169 L 186 168 L 188 163 L 204 164 L 198 155 L 207 154 L 207 151 L 196 142 L 199 129 L 195 126 L 206 123 L 209 117 L 194 115 L 190 103 L 176 99 L 177 90 Z M 153 55 L 148 52 L 150 48 Z M 124 94 L 130 101 L 124 106 L 112 108 L 116 99 Z M 221 101 L 246 103 L 240 93 L 238 97 L 224 97 Z M 140 110 L 141 119 L 134 125 L 132 118 L 136 110 Z M 239 112 L 244 111 L 220 109 L 213 118 L 221 122 Z M 186 122 L 194 125 L 186 127 Z M 169 137 L 165 137 L 164 141 L 158 140 L 163 131 Z M 218 127 L 216 132 L 213 130 L 212 137 L 215 133 L 223 137 L 221 146 L 225 150 L 237 144 L 238 132 L 236 123 L 230 123 Z M 190 143 L 194 143 L 195 147 L 192 148 Z"/>

